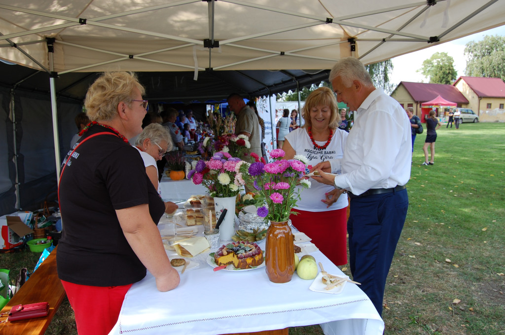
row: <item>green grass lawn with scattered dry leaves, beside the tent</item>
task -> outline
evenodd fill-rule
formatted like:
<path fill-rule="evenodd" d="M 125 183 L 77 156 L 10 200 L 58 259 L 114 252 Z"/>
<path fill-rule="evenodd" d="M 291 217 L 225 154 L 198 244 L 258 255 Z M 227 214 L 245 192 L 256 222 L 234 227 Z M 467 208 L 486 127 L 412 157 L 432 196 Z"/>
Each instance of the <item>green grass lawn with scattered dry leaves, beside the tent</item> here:
<path fill-rule="evenodd" d="M 505 124 L 444 125 L 437 133 L 429 166 L 421 165 L 426 134 L 417 136 L 410 208 L 386 284 L 385 333 L 503 335 Z M 33 268 L 38 254 L 0 257 L 12 274 Z M 65 300 L 46 334 L 76 334 L 73 322 Z M 323 332 L 316 325 L 289 333 Z"/>

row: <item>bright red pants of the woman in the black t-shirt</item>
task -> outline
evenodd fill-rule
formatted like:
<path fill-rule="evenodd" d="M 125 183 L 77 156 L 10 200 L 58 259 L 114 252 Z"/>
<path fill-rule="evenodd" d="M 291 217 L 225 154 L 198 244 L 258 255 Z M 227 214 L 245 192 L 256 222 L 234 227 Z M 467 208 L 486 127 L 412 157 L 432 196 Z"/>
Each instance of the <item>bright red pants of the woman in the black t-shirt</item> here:
<path fill-rule="evenodd" d="M 118 321 L 126 292 L 131 287 L 86 286 L 62 281 L 74 309 L 79 335 L 107 335 Z"/>

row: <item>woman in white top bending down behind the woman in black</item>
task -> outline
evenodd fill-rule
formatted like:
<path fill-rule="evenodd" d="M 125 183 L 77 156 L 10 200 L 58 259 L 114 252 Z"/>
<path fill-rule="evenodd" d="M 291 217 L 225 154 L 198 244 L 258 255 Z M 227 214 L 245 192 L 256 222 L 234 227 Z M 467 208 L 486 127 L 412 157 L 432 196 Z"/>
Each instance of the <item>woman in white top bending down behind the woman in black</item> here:
<path fill-rule="evenodd" d="M 172 150 L 172 137 L 168 130 L 158 123 L 147 125 L 135 141 L 134 148 L 140 152 L 144 161 L 145 173 L 161 196 L 160 183 L 158 182 L 157 160 L 163 159 L 167 151 Z M 165 212 L 173 213 L 178 206 L 170 201 L 165 202 Z"/>

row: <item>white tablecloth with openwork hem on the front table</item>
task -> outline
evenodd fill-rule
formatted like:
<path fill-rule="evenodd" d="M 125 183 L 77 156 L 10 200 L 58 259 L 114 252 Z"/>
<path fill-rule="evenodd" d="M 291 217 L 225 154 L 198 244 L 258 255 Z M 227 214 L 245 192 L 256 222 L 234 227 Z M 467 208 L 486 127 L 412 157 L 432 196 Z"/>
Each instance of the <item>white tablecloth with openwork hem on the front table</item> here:
<path fill-rule="evenodd" d="M 264 250 L 265 242 L 260 243 Z M 215 335 L 321 324 L 327 335 L 381 335 L 384 322 L 355 284 L 340 294 L 309 290 L 313 281 L 293 274 L 272 283 L 265 267 L 249 271 L 213 271 L 209 252 L 193 257 L 199 266 L 180 275 L 179 286 L 159 292 L 153 275 L 133 284 L 110 335 Z M 311 253 L 326 271 L 342 272 L 320 251 Z"/>

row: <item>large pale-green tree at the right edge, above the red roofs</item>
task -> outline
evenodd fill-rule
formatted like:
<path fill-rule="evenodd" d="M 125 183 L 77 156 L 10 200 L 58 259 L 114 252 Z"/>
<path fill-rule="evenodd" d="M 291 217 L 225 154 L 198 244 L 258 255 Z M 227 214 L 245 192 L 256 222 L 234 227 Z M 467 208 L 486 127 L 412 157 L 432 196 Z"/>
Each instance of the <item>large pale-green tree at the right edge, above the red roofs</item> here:
<path fill-rule="evenodd" d="M 465 46 L 467 68 L 471 77 L 501 78 L 505 80 L 505 36 L 485 36 L 483 40 Z"/>

